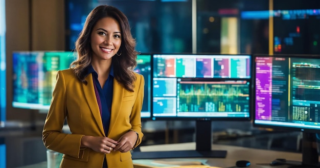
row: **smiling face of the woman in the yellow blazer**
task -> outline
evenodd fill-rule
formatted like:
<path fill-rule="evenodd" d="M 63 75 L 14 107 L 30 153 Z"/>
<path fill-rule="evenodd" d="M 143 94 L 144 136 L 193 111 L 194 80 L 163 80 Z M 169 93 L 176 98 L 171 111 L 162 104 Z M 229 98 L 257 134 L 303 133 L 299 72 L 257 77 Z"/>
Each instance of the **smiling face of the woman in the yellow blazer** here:
<path fill-rule="evenodd" d="M 111 59 L 119 51 L 121 35 L 120 25 L 116 19 L 104 17 L 98 20 L 90 36 L 93 58 L 97 60 Z"/>

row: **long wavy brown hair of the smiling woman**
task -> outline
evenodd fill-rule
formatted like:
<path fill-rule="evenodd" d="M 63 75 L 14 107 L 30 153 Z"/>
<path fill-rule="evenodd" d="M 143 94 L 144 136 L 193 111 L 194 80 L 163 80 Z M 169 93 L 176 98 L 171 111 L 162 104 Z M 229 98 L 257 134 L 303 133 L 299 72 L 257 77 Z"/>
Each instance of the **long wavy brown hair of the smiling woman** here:
<path fill-rule="evenodd" d="M 75 75 L 81 82 L 87 84 L 87 81 L 85 80 L 87 75 L 86 69 L 91 64 L 93 53 L 90 46 L 90 34 L 98 20 L 104 17 L 112 17 L 113 19 L 116 19 L 120 25 L 120 31 L 122 34 L 122 42 L 119 49 L 121 56 L 115 55 L 112 57 L 115 78 L 124 86 L 125 89 L 133 91 L 133 83 L 136 79 L 133 69 L 136 67 L 136 57 L 139 53 L 135 50 L 136 43 L 130 32 L 128 18 L 123 12 L 115 7 L 100 5 L 88 14 L 84 27 L 75 43 L 77 59 L 72 62 L 70 68 L 74 70 Z"/>

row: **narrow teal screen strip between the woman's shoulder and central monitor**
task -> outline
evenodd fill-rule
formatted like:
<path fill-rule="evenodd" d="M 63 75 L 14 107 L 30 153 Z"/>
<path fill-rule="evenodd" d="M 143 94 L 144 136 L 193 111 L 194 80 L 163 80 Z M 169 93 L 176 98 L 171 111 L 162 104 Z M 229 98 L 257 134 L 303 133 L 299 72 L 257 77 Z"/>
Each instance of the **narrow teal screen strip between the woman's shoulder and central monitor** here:
<path fill-rule="evenodd" d="M 147 119 L 151 117 L 151 55 L 139 54 L 136 59 L 137 66 L 134 72 L 143 75 L 145 78 L 145 95 L 141 111 L 141 118 Z"/>

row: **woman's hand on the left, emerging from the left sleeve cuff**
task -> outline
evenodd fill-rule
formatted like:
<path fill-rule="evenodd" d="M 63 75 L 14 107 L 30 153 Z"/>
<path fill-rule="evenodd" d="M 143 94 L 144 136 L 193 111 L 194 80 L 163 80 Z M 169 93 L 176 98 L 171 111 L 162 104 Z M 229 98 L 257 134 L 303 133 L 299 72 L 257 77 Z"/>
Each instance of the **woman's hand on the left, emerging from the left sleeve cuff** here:
<path fill-rule="evenodd" d="M 81 147 L 91 148 L 96 152 L 110 153 L 118 142 L 108 137 L 83 136 Z"/>

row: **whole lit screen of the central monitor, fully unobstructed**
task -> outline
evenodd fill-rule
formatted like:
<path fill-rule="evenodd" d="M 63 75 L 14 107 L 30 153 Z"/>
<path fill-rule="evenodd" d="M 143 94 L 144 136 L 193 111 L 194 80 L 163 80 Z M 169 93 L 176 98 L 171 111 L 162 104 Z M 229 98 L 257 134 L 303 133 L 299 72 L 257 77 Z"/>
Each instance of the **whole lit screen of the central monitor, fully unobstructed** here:
<path fill-rule="evenodd" d="M 250 55 L 154 54 L 153 119 L 249 119 Z"/>

